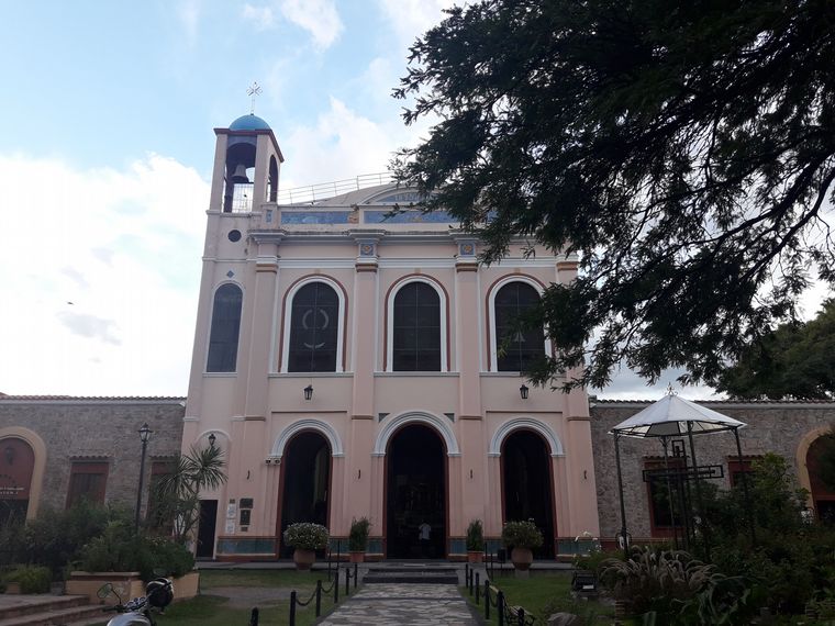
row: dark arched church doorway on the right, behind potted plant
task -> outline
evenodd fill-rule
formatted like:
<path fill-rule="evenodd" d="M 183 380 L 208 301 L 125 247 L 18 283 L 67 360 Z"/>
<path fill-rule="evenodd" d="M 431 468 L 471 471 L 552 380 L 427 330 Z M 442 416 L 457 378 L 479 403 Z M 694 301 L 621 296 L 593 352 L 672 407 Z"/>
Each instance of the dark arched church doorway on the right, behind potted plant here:
<path fill-rule="evenodd" d="M 547 444 L 537 433 L 515 431 L 502 443 L 501 459 L 504 521 L 533 519 L 544 539 L 534 555 L 554 557 L 554 485 Z"/>

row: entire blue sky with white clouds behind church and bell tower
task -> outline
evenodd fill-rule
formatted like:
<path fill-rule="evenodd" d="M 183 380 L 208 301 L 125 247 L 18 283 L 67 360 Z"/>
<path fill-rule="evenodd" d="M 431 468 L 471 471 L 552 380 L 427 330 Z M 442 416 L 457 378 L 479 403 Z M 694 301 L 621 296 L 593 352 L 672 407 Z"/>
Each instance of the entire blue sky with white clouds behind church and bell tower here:
<path fill-rule="evenodd" d="M 4 3 L 0 391 L 185 395 L 212 128 L 258 81 L 283 189 L 383 171 L 427 128 L 390 93 L 450 3 Z"/>

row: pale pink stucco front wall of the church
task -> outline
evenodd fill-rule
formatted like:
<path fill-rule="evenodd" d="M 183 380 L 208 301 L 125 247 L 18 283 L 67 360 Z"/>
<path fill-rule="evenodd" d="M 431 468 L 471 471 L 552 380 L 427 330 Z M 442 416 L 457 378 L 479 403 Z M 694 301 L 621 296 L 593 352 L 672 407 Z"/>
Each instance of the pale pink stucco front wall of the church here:
<path fill-rule="evenodd" d="M 491 289 L 508 278 L 536 286 L 568 281 L 575 276 L 574 260 L 544 249 L 524 257 L 514 247 L 501 264 L 488 268 L 460 254 L 461 241 L 476 242 L 448 224 L 364 223 L 367 211 L 391 208 L 363 203 L 385 188 L 356 192 L 326 208 L 256 203 L 252 213 L 221 213 L 216 208 L 223 185 L 218 177 L 223 177 L 225 142 L 226 135 L 219 134 L 182 441 L 183 449 L 207 445 L 214 433 L 216 445 L 227 451 L 229 482 L 203 495 L 219 500 L 216 555 L 270 556 L 279 491 L 282 481 L 292 480 L 281 476 L 280 460 L 288 440 L 303 431 L 323 434 L 333 452 L 331 534 L 346 536 L 352 518 L 365 515 L 379 539 L 375 545 L 385 550 L 386 444 L 398 427 L 411 423 L 428 425 L 444 440 L 448 554 L 460 552 L 456 539 L 474 518 L 485 522 L 488 536 L 500 534 L 501 444 L 517 428 L 538 433 L 547 444 L 556 536 L 597 535 L 584 392 L 563 394 L 528 385 L 530 396 L 522 400 L 524 379 L 491 371 Z M 258 149 L 270 154 L 277 146 L 259 136 Z M 256 189 L 258 176 L 256 171 Z M 282 223 L 285 215 L 314 210 L 348 211 L 352 221 Z M 237 243 L 227 238 L 233 228 L 243 233 Z M 369 242 L 372 248 L 361 247 Z M 336 372 L 286 372 L 286 306 L 305 280 L 326 280 L 339 293 L 342 354 Z M 390 300 L 404 280 L 428 282 L 441 294 L 441 372 L 390 371 Z M 225 282 L 238 284 L 244 293 L 237 367 L 231 373 L 205 373 L 212 298 Z M 314 393 L 305 401 L 302 389 L 308 384 Z M 250 523 L 243 529 L 235 517 L 226 527 L 227 505 L 241 499 L 253 499 Z"/>

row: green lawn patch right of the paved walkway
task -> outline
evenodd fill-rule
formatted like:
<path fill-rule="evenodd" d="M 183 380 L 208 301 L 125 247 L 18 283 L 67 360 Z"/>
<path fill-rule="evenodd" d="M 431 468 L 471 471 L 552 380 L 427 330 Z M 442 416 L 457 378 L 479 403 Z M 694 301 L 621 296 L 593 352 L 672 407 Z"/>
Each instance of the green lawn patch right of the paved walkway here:
<path fill-rule="evenodd" d="M 569 572 L 536 572 L 532 571 L 530 578 L 515 578 L 513 572 L 505 572 L 492 580 L 493 586 L 504 593 L 504 597 L 511 606 L 523 606 L 525 613 L 533 614 L 537 624 L 545 624 L 552 613 L 567 612 L 580 615 L 584 623 L 605 618 L 611 623 L 614 611 L 595 601 L 575 601 L 571 599 L 571 574 Z M 461 588 L 461 594 L 475 606 L 475 592 L 472 597 L 466 588 Z M 481 597 L 477 610 L 485 615 L 485 601 Z M 496 610 L 490 611 L 490 624 L 498 624 Z"/>

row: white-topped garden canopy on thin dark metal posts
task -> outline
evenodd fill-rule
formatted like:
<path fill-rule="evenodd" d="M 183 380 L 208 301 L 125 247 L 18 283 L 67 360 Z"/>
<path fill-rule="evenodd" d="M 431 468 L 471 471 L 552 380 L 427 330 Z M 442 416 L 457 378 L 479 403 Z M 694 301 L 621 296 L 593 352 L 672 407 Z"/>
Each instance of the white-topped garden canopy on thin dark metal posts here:
<path fill-rule="evenodd" d="M 661 440 L 664 446 L 665 465 L 667 460 L 667 441 L 671 437 L 687 436 L 690 440 L 690 452 L 695 465 L 695 448 L 693 446 L 693 435 L 720 433 L 722 431 L 732 431 L 736 439 L 736 451 L 742 465 L 743 452 L 739 445 L 739 428 L 745 427 L 744 422 L 723 415 L 717 411 L 708 409 L 683 398 L 679 398 L 670 390 L 667 395 L 654 402 L 643 411 L 639 411 L 628 420 L 625 420 L 614 426 L 610 434 L 614 435 L 614 450 L 615 459 L 617 462 L 617 487 L 621 495 L 621 534 L 619 537 L 620 543 L 623 545 L 624 550 L 628 544 L 628 533 L 626 532 L 626 511 L 623 502 L 623 479 L 621 477 L 621 450 L 619 446 L 619 439 L 621 437 L 636 437 L 647 438 L 657 437 Z M 667 483 L 668 490 L 669 478 Z M 747 481 L 743 480 L 743 489 L 745 491 L 745 501 L 748 504 L 748 485 Z M 701 491 L 699 483 L 697 483 L 697 492 L 701 500 Z M 670 495 L 671 498 L 671 495 Z M 672 504 L 670 503 L 670 506 Z M 756 536 L 754 534 L 754 521 L 750 518 L 750 507 L 748 506 L 748 517 L 750 522 L 752 540 L 756 544 Z"/>

